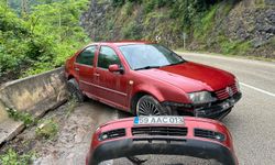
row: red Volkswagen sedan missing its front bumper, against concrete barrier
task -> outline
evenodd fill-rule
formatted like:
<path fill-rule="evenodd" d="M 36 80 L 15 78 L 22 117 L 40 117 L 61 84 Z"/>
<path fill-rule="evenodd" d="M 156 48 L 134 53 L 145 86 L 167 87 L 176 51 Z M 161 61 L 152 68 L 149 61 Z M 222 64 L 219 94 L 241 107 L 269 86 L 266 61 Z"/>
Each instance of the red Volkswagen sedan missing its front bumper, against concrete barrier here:
<path fill-rule="evenodd" d="M 89 44 L 66 62 L 70 92 L 138 116 L 226 117 L 240 100 L 237 78 L 150 42 Z"/>

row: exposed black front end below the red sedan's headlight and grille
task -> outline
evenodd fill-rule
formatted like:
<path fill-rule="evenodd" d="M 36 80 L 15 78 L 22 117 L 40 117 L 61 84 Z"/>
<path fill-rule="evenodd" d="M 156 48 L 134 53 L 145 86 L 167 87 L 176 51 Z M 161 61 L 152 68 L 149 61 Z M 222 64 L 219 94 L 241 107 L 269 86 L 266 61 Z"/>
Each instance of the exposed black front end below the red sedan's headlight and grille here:
<path fill-rule="evenodd" d="M 222 119 L 231 111 L 235 102 L 238 102 L 241 97 L 242 94 L 237 92 L 231 98 L 228 98 L 226 100 L 213 102 L 211 105 L 202 107 L 195 107 L 194 116 L 200 118 Z"/>

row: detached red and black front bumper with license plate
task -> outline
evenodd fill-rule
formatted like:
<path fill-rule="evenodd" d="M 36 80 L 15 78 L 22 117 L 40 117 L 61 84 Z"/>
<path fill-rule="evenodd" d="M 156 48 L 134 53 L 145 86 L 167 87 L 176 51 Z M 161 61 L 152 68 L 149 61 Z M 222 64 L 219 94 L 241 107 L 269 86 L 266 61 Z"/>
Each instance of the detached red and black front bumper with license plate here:
<path fill-rule="evenodd" d="M 150 158 L 142 158 L 144 155 Z M 164 158 L 160 158 L 165 155 Z M 178 155 L 169 160 L 168 155 Z M 202 164 L 238 165 L 231 134 L 220 122 L 193 117 L 135 117 L 108 122 L 96 130 L 86 164 Z M 127 157 L 127 160 L 119 160 Z M 201 164 L 201 160 L 193 163 Z M 198 162 L 199 161 L 199 162 Z M 156 163 L 154 163 L 156 162 Z M 108 163 L 106 163 L 108 164 Z M 110 164 L 110 163 L 109 163 Z M 212 163 L 211 163 L 212 164 Z"/>

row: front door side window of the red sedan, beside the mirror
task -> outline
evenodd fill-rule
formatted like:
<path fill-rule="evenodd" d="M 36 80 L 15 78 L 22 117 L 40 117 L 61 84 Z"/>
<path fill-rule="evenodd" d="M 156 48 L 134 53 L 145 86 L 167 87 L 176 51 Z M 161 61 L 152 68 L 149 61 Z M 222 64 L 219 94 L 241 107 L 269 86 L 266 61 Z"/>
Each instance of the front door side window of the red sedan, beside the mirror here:
<path fill-rule="evenodd" d="M 111 47 L 101 46 L 98 57 L 98 67 L 108 68 L 109 65 L 112 64 L 118 64 L 121 66 L 119 56 Z"/>

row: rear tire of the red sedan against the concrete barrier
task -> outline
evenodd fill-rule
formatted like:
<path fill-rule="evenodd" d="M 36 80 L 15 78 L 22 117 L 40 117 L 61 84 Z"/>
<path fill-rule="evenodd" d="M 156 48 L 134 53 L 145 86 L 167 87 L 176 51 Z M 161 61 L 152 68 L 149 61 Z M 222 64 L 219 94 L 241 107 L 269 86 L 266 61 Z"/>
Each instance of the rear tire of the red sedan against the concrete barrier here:
<path fill-rule="evenodd" d="M 72 98 L 75 98 L 77 102 L 84 102 L 85 101 L 85 95 L 80 90 L 78 82 L 75 78 L 72 78 L 67 81 L 68 85 L 68 91 L 70 94 Z"/>

